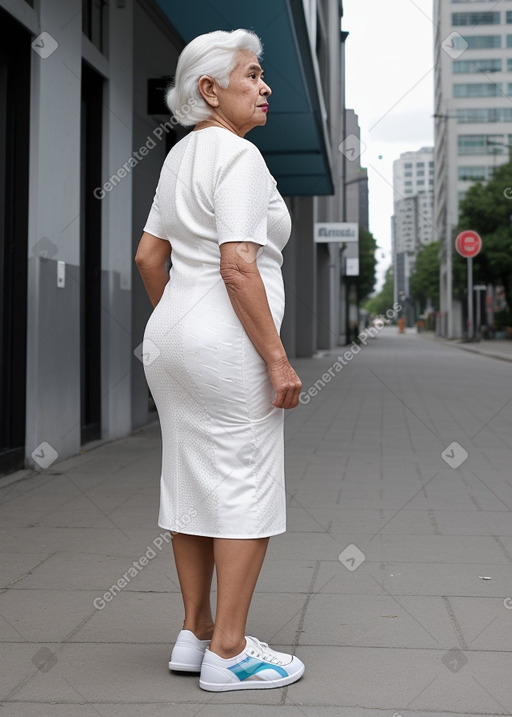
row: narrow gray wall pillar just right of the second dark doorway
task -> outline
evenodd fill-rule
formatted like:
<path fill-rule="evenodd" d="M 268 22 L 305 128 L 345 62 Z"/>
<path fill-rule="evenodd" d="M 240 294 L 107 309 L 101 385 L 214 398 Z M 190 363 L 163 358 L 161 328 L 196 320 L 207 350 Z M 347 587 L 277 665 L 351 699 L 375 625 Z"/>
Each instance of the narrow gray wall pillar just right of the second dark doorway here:
<path fill-rule="evenodd" d="M 104 87 L 103 176 L 118 173 L 133 147 L 133 0 L 109 5 L 108 79 Z M 131 281 L 133 172 L 102 200 L 101 423 L 103 439 L 131 430 Z"/>

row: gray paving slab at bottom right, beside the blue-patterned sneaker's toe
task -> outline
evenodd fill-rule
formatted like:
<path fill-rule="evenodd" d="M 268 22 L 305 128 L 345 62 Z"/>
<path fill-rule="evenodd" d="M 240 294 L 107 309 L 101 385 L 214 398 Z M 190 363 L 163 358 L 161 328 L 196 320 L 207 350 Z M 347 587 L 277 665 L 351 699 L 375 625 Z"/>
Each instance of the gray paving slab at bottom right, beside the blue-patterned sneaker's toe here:
<path fill-rule="evenodd" d="M 456 643 L 450 650 L 301 647 L 311 668 L 292 698 L 332 707 L 363 704 L 390 715 L 510 714 L 512 654 L 463 651 Z"/>

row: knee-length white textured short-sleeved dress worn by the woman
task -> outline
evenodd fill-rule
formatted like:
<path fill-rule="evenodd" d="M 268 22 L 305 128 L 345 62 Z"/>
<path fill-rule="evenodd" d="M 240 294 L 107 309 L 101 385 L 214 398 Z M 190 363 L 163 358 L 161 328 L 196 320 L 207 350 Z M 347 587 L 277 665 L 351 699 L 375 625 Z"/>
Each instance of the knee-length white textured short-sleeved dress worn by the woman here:
<path fill-rule="evenodd" d="M 170 280 L 144 333 L 162 431 L 158 524 L 218 538 L 286 530 L 284 410 L 220 276 L 219 245 L 261 245 L 258 268 L 279 331 L 290 216 L 263 157 L 227 129 L 169 152 L 146 232 L 172 247 Z"/>

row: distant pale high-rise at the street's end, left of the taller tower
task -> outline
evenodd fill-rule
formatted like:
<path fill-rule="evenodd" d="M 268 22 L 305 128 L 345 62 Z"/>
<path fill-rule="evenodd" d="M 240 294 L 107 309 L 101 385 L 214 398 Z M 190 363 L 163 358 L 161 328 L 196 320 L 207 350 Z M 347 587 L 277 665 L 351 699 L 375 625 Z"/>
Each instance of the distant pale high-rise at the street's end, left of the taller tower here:
<path fill-rule="evenodd" d="M 391 224 L 395 301 L 408 299 L 416 256 L 423 246 L 437 238 L 433 227 L 433 190 L 433 147 L 404 152 L 395 160 Z"/>

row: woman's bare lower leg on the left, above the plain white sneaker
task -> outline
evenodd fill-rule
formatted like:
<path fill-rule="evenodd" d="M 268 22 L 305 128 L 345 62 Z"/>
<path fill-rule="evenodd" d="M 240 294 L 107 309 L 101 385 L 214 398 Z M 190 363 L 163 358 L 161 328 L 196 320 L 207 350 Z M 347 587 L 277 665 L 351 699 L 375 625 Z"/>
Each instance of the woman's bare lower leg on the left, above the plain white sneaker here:
<path fill-rule="evenodd" d="M 184 630 L 199 640 L 213 635 L 210 590 L 213 576 L 213 538 L 176 533 L 172 539 L 174 560 L 185 607 Z"/>

